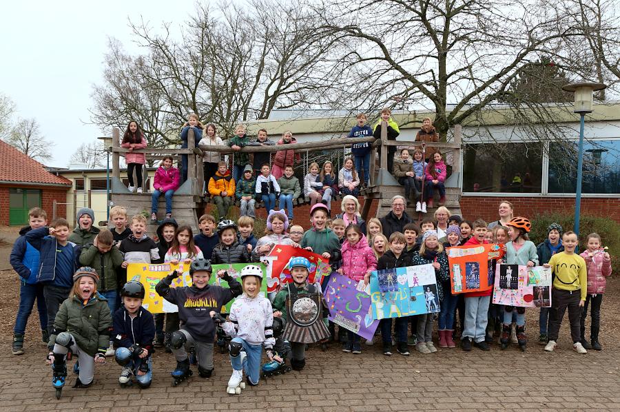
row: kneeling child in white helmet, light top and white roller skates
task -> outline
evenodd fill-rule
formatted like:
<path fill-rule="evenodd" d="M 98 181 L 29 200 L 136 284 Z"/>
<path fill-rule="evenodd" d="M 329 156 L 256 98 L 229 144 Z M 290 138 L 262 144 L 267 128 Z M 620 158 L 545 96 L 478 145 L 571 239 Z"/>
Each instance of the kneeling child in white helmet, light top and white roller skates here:
<path fill-rule="evenodd" d="M 269 360 L 273 360 L 273 310 L 271 302 L 260 293 L 262 269 L 257 265 L 248 265 L 241 269 L 243 294 L 236 298 L 230 307 L 229 321 L 226 322 L 216 311 L 211 316 L 220 322 L 222 328 L 232 340 L 228 345 L 230 363 L 233 373 L 228 381 L 227 392 L 241 392 L 245 387 L 242 383 L 243 371 L 247 375 L 247 383 L 258 384 L 260 378 L 260 358 L 262 347 L 267 351 Z"/>

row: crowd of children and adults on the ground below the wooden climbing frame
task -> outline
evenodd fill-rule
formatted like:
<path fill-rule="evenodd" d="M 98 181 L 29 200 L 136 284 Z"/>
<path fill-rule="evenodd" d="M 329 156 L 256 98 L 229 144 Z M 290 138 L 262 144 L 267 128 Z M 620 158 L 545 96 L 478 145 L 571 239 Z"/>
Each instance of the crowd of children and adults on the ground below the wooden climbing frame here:
<path fill-rule="evenodd" d="M 127 227 L 122 207 L 110 211 L 111 230 L 94 227 L 93 211 L 80 209 L 72 231 L 67 220 L 58 218 L 48 225 L 45 211 L 31 209 L 30 225 L 22 229 L 10 257 L 21 282 L 12 352 L 23 353 L 25 325 L 37 300 L 43 342 L 50 348 L 47 362 L 52 364 L 57 391 L 65 383 L 68 353 L 78 358 L 74 367 L 79 374 L 76 387 L 90 386 L 94 364 L 112 355 L 122 367 L 121 384 L 130 384 L 135 377 L 141 387 L 148 387 L 151 355 L 156 347 L 174 354 L 174 384 L 192 375 L 191 361 L 197 364 L 198 374 L 208 378 L 214 370 L 218 325 L 231 338 L 224 344 L 234 369 L 229 381 L 231 393 L 240 391 L 243 371 L 249 384 L 258 384 L 261 370 L 288 371 L 287 359 L 293 369 L 303 369 L 309 343 L 338 339 L 344 352 L 361 353 L 358 335 L 340 328 L 336 334 L 335 326 L 328 324 L 328 311 L 322 310 L 321 285 L 307 282 L 310 264 L 305 258 L 291 260 L 291 282 L 269 298 L 260 293 L 265 279 L 258 265 L 247 265 L 239 278 L 225 270 L 217 271 L 216 276 L 228 283 L 227 288 L 210 284 L 212 264 L 260 262 L 275 245 L 313 251 L 329 260 L 333 270 L 365 283 L 377 269 L 431 264 L 440 302 L 440 347 L 455 347 L 454 339 L 459 335 L 463 350 L 471 351 L 475 346 L 486 351 L 497 332 L 503 349 L 510 342 L 525 349 L 524 308 L 490 304 L 491 290 L 451 292 L 446 248 L 490 242 L 505 245 L 503 262 L 551 268 L 552 307 L 540 309 L 539 325 L 539 343 L 545 344 L 546 351 L 555 349 L 567 310 L 573 349 L 578 353 L 590 348 L 601 350 L 600 307 L 611 266 L 599 235 L 588 235 L 587 249 L 579 255 L 575 254 L 577 235 L 563 233 L 556 223 L 548 227 L 548 238 L 534 245 L 528 240 L 530 221 L 514 217 L 508 202 L 502 202 L 499 220 L 489 225 L 482 219 L 471 223 L 451 216 L 448 209 L 440 207 L 433 219 L 422 221 L 421 227 L 404 212 L 405 205 L 403 196 L 395 196 L 391 212 L 366 223 L 355 196 L 344 196 L 342 214 L 333 220 L 329 219 L 327 205 L 316 203 L 310 212 L 312 228 L 305 232 L 299 225 L 290 224 L 285 211 L 272 210 L 267 233 L 258 239 L 253 234 L 254 219 L 249 216 L 241 216 L 236 223 L 216 223 L 213 216 L 203 215 L 196 236 L 189 226 L 165 218 L 158 225 L 157 242 L 147 236 L 144 216 L 133 216 Z M 192 286 L 171 288 L 179 276 L 176 271 L 156 285 L 156 292 L 177 305 L 178 313 L 152 316 L 141 306 L 143 285 L 135 280 L 127 282 L 125 269 L 133 262 L 189 265 Z M 223 318 L 220 308 L 233 298 L 236 300 L 229 316 Z M 291 305 L 300 299 L 304 302 L 299 305 L 302 309 L 309 300 L 316 307 L 304 312 L 296 306 L 296 311 L 291 311 Z M 589 341 L 585 329 L 588 305 L 592 318 Z M 297 312 L 306 316 L 304 322 L 296 319 Z M 307 322 L 309 318 L 314 321 Z M 456 320 L 459 333 L 455 333 Z M 409 346 L 420 353 L 437 351 L 432 336 L 434 322 L 433 314 L 381 320 L 378 333 L 383 353 L 392 354 L 393 330 L 396 351 L 404 356 L 409 355 Z M 261 367 L 262 348 L 268 362 Z"/>

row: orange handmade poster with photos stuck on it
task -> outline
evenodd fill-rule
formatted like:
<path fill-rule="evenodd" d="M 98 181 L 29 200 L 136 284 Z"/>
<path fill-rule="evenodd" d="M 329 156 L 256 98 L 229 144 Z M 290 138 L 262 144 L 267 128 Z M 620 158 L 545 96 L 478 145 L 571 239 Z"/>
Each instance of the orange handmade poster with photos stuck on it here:
<path fill-rule="evenodd" d="M 486 291 L 493 288 L 495 271 L 488 260 L 504 256 L 502 247 L 486 245 L 455 246 L 446 249 L 452 293 Z"/>

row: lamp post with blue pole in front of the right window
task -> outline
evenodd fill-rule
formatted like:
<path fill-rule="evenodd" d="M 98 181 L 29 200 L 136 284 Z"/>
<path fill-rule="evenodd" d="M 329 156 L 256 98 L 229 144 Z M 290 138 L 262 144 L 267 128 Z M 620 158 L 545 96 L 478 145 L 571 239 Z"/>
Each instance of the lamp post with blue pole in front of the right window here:
<path fill-rule="evenodd" d="M 581 214 L 581 174 L 583 169 L 583 129 L 586 125 L 586 113 L 592 113 L 593 94 L 607 86 L 603 83 L 571 83 L 562 87 L 566 92 L 575 94 L 575 109 L 579 113 L 579 156 L 577 157 L 577 187 L 575 188 L 575 226 L 573 231 L 579 236 L 579 214 Z"/>

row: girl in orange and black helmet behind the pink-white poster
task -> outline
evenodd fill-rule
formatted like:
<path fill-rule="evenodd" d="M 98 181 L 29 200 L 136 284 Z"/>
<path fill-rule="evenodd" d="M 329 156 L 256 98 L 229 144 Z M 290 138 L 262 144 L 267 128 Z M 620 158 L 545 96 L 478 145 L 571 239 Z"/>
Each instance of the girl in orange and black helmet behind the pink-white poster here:
<path fill-rule="evenodd" d="M 530 220 L 516 217 L 506 224 L 508 226 L 508 237 L 510 242 L 506 243 L 506 264 L 522 265 L 534 267 L 538 265 L 538 255 L 536 245 L 530 242 L 528 232 L 532 228 Z M 514 274 L 514 276 L 518 276 Z M 513 322 L 513 311 L 517 311 L 517 342 L 521 351 L 525 351 L 528 343 L 525 334 L 525 308 L 504 306 L 504 325 L 502 327 L 502 337 L 500 342 L 502 349 L 508 347 L 510 340 L 510 324 Z"/>

